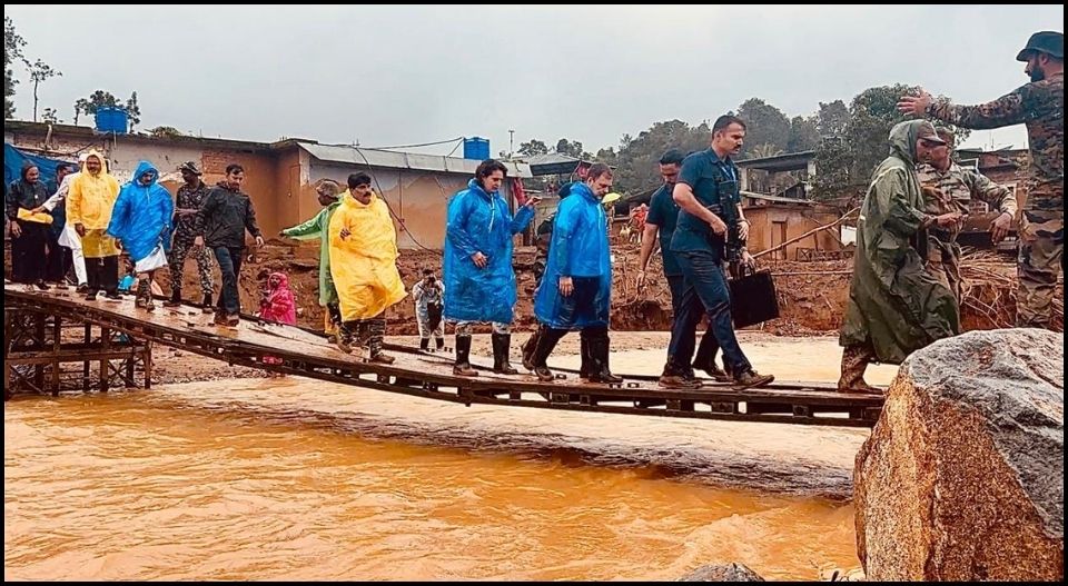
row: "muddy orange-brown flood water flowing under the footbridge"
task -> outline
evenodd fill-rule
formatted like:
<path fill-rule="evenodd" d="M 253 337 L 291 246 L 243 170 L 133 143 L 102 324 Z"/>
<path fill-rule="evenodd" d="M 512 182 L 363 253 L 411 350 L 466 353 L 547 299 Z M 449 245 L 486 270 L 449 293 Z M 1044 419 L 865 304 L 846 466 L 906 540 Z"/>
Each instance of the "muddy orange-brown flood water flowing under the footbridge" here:
<path fill-rule="evenodd" d="M 824 339 L 746 350 L 794 379 L 839 356 Z M 655 371 L 662 352 L 614 360 Z M 842 499 L 866 437 L 298 378 L 17 398 L 4 579 L 673 579 L 726 562 L 814 579 L 858 565 Z"/>

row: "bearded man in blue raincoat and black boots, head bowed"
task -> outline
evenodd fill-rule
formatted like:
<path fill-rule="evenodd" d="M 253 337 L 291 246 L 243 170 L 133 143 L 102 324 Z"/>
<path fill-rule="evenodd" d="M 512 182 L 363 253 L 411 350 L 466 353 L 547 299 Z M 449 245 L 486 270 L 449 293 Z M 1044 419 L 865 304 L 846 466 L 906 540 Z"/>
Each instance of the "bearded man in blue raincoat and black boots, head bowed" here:
<path fill-rule="evenodd" d="M 591 383 L 619 384 L 609 369 L 609 307 L 612 261 L 609 226 L 601 198 L 612 189 L 612 169 L 595 163 L 583 183 L 561 200 L 548 246 L 548 264 L 537 288 L 534 314 L 541 324 L 530 366 L 542 381 L 553 380 L 545 360 L 567 331 L 577 329 L 590 348 Z"/>

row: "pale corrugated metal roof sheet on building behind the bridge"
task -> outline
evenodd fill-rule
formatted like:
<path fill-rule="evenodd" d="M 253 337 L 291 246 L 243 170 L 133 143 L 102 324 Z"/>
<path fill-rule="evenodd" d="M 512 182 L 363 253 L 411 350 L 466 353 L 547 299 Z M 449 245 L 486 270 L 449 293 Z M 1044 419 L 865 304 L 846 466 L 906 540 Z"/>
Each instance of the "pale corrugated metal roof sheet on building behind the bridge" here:
<path fill-rule="evenodd" d="M 360 149 L 357 147 L 327 147 L 312 142 L 298 142 L 301 149 L 322 161 L 343 162 L 383 167 L 388 169 L 413 169 L 445 173 L 474 175 L 478 161 L 437 155 L 417 155 L 414 152 L 394 152 L 389 150 Z M 524 162 L 504 162 L 508 176 L 531 178 L 531 166 Z"/>

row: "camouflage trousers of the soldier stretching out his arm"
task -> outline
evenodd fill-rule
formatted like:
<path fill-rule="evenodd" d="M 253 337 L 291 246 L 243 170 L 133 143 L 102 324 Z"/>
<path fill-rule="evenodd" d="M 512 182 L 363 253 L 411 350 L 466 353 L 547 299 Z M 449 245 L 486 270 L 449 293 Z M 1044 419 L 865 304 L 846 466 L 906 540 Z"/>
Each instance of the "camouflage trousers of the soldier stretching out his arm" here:
<path fill-rule="evenodd" d="M 1065 212 L 1025 210 L 1020 217 L 1020 248 L 1017 270 L 1016 325 L 1048 328 L 1064 269 Z"/>

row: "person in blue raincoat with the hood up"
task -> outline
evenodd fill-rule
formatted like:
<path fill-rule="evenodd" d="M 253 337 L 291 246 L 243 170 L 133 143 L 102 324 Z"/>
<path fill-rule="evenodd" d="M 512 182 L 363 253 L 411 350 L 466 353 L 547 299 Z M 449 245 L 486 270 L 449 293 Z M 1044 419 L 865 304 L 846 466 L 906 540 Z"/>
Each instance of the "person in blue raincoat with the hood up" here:
<path fill-rule="evenodd" d="M 171 218 L 175 202 L 170 192 L 157 182 L 159 171 L 148 161 L 140 161 L 130 180 L 122 186 L 108 224 L 108 236 L 122 244 L 137 272 L 138 308 L 151 311 L 151 280 L 156 270 L 167 266 L 170 249 Z"/>

